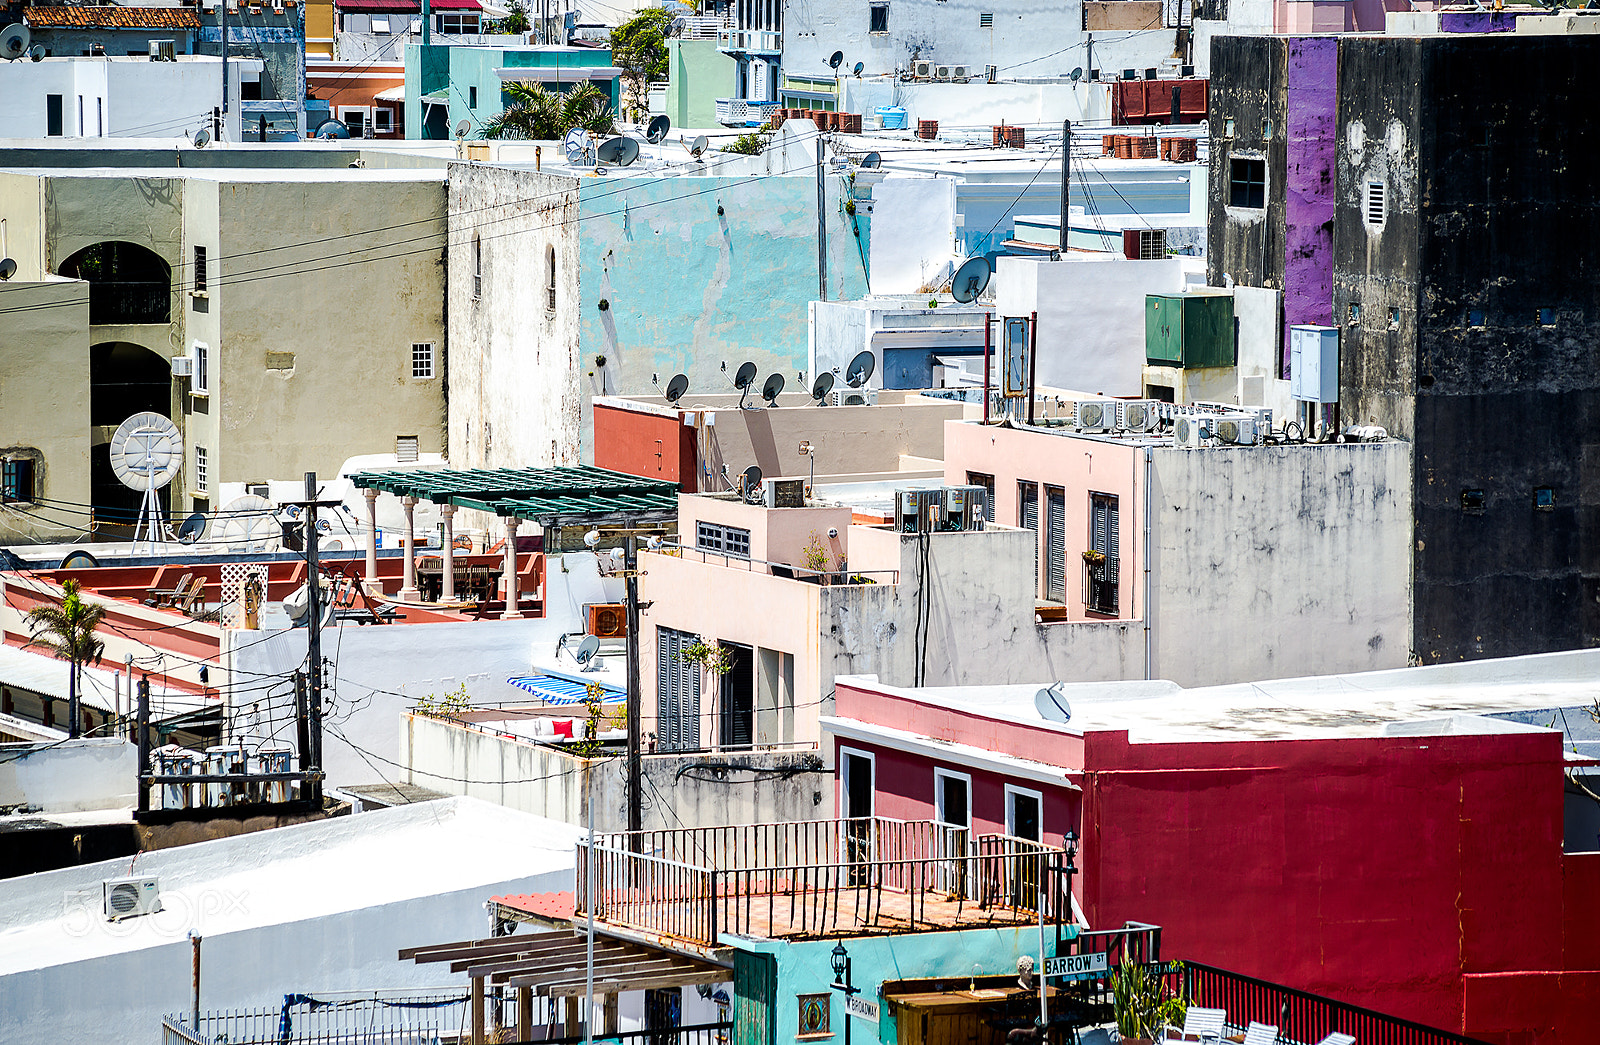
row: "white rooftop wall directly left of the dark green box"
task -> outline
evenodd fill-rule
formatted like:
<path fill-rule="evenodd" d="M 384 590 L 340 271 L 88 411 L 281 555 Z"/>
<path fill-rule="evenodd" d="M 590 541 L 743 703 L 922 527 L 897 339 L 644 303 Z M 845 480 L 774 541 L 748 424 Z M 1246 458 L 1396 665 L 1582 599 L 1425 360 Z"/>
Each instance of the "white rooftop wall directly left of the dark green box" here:
<path fill-rule="evenodd" d="M 1040 386 L 1141 395 L 1144 296 L 1184 288 L 1184 261 L 1000 258 L 1000 315 L 1038 312 Z"/>

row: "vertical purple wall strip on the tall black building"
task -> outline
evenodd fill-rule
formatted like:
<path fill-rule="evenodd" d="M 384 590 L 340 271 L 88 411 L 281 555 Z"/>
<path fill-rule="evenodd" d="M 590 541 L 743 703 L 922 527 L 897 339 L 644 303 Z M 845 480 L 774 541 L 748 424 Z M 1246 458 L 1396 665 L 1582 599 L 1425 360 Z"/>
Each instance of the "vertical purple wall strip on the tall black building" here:
<path fill-rule="evenodd" d="M 1333 166 L 1338 136 L 1338 37 L 1290 40 L 1285 104 L 1283 344 L 1290 376 L 1288 328 L 1333 323 Z"/>

